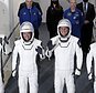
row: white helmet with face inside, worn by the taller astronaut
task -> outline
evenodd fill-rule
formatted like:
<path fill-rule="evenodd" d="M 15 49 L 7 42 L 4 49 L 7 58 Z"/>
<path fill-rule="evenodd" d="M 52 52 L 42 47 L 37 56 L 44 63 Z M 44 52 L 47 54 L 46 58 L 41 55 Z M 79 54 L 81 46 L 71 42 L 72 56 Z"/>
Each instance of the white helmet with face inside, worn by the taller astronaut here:
<path fill-rule="evenodd" d="M 60 20 L 57 24 L 57 34 L 60 37 L 60 40 L 64 42 L 67 41 L 71 37 L 71 32 L 72 32 L 72 24 L 70 20 L 67 19 Z"/>

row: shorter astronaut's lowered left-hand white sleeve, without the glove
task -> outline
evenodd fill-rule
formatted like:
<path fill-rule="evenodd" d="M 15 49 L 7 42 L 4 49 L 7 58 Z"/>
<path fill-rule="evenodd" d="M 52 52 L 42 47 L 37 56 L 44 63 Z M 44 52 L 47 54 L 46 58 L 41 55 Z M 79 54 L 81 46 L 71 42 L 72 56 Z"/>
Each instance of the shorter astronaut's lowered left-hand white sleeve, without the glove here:
<path fill-rule="evenodd" d="M 12 71 L 15 70 L 15 66 L 17 66 L 17 58 L 18 58 L 18 49 L 17 49 L 17 44 L 14 45 L 14 49 L 13 49 L 13 54 L 12 54 Z"/>

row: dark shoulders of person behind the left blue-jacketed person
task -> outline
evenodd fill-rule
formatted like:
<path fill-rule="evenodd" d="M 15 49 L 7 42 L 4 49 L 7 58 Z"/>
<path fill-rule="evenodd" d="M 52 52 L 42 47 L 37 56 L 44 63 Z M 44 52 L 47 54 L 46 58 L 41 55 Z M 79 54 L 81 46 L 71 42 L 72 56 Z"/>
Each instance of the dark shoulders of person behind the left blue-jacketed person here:
<path fill-rule="evenodd" d="M 19 11 L 18 11 L 18 17 L 20 17 L 20 10 L 24 7 L 26 7 L 25 2 L 20 3 Z M 41 7 L 38 2 L 32 1 L 32 7 L 36 7 L 40 10 L 41 14 L 42 14 L 42 9 L 41 9 Z"/>

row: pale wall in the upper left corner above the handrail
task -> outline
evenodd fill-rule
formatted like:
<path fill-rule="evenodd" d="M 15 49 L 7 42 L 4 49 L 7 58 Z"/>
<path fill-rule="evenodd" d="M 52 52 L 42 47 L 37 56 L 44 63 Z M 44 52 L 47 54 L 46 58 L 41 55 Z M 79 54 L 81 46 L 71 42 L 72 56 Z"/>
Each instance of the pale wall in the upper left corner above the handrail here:
<path fill-rule="evenodd" d="M 20 0 L 0 0 L 0 34 L 9 35 L 18 23 L 19 4 Z"/>

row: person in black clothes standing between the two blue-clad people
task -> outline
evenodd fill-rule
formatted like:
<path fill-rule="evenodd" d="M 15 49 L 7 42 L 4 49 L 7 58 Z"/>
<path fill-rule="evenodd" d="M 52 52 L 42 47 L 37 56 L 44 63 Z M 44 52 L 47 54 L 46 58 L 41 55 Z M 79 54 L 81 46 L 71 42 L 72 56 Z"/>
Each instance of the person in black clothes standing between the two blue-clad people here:
<path fill-rule="evenodd" d="M 51 6 L 46 11 L 46 27 L 50 32 L 50 38 L 57 34 L 57 23 L 63 18 L 63 8 L 60 6 L 58 0 L 51 0 Z"/>

